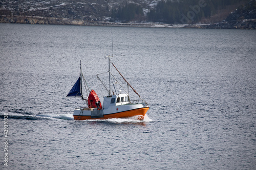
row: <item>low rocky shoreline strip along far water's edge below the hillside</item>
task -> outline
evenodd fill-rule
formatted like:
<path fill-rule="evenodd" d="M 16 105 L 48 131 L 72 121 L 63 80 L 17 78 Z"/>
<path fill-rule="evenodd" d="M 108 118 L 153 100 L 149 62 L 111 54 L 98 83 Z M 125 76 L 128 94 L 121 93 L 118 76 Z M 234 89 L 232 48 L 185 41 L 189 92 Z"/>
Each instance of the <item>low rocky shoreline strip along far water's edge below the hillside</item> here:
<path fill-rule="evenodd" d="M 256 29 L 256 19 L 225 21 L 211 24 L 165 24 L 165 23 L 122 23 L 89 21 L 38 16 L 0 16 L 0 23 L 27 23 L 39 25 L 74 25 L 74 26 L 113 26 L 113 27 L 145 27 L 145 28 L 197 28 L 197 29 Z"/>

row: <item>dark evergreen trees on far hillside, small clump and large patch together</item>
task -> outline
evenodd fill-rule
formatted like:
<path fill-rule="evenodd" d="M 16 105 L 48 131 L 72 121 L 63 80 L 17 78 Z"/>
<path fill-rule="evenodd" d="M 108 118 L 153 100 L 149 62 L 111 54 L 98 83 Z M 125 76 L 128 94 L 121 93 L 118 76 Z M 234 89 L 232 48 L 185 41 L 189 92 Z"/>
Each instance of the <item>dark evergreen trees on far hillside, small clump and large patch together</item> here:
<path fill-rule="evenodd" d="M 236 5 L 249 0 L 167 0 L 158 2 L 146 16 L 141 6 L 127 4 L 113 9 L 111 17 L 121 21 L 139 20 L 164 23 L 194 23 L 203 18 L 210 18 L 227 6 Z"/>

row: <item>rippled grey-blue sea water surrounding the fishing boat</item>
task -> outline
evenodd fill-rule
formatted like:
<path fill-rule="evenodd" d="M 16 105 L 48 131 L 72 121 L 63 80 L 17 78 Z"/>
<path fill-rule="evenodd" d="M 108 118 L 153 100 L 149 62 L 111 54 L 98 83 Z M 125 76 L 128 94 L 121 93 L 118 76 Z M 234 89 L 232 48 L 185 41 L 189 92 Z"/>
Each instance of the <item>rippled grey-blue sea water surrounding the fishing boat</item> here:
<path fill-rule="evenodd" d="M 255 30 L 2 23 L 0 37 L 0 169 L 256 168 Z M 103 101 L 112 54 L 145 119 L 74 120 L 80 60 Z"/>

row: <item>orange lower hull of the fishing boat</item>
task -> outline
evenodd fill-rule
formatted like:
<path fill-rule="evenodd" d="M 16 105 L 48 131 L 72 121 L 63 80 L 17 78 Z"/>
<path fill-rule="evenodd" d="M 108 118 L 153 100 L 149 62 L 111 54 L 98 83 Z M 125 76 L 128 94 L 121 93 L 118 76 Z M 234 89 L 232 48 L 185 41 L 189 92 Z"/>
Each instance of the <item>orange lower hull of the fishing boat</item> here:
<path fill-rule="evenodd" d="M 149 107 L 144 107 L 144 108 L 124 111 L 119 113 L 105 114 L 104 117 L 100 117 L 100 118 L 91 118 L 91 116 L 80 116 L 80 115 L 73 115 L 73 116 L 75 120 L 109 119 L 109 118 L 123 118 L 123 117 L 133 117 L 133 116 L 139 116 L 138 118 L 140 120 L 143 120 L 148 109 Z"/>

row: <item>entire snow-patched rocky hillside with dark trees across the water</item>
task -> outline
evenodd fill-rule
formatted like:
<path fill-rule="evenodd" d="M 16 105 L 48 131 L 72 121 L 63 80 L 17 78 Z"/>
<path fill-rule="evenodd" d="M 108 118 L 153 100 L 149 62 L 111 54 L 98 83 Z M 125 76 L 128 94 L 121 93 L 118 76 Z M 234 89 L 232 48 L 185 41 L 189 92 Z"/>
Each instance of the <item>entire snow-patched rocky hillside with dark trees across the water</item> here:
<path fill-rule="evenodd" d="M 255 19 L 255 4 L 256 0 L 0 0 L 0 22 L 216 23 Z"/>

